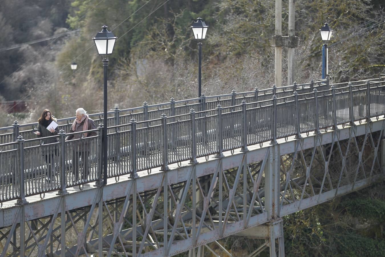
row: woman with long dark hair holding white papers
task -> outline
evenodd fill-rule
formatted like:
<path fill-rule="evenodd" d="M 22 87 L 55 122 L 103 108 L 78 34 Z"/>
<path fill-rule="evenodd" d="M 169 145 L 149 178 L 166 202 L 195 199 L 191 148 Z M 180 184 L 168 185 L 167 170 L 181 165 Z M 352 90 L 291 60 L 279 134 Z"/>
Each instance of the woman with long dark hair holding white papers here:
<path fill-rule="evenodd" d="M 42 116 L 40 116 L 40 118 L 37 120 L 39 124 L 37 126 L 37 131 L 35 132 L 35 134 L 37 135 L 38 138 L 56 136 L 59 133 L 58 127 L 56 127 L 55 129 L 53 128 L 47 129 L 47 127 L 49 126 L 49 124 L 52 123 L 52 121 L 56 122 L 56 118 L 54 118 L 51 115 L 51 111 L 49 109 L 45 109 L 42 112 Z M 45 138 L 45 139 L 42 139 L 42 141 L 43 141 L 42 142 L 43 145 L 52 144 L 57 142 L 57 138 Z M 56 145 L 45 146 L 45 147 L 43 146 L 43 155 L 45 155 L 45 163 L 47 165 L 47 170 L 48 170 L 47 181 L 51 181 L 51 179 L 55 180 L 55 176 L 52 177 L 52 175 L 54 174 L 52 174 L 51 172 L 52 171 L 51 163 L 55 163 L 54 154 L 56 156 Z"/>

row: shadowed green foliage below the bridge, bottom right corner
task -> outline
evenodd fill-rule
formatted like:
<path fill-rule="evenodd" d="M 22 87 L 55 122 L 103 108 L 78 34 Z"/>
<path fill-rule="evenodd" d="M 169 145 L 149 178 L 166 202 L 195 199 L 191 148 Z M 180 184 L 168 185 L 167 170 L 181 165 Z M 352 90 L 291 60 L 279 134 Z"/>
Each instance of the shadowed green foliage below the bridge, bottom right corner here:
<path fill-rule="evenodd" d="M 385 256 L 383 182 L 284 217 L 286 256 Z"/>

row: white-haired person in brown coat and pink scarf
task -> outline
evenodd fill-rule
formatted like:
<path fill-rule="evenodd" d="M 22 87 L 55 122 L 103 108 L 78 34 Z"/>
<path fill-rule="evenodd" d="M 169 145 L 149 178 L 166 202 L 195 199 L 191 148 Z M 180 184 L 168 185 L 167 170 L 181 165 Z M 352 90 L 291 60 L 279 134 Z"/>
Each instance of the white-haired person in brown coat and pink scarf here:
<path fill-rule="evenodd" d="M 79 108 L 76 110 L 76 119 L 70 128 L 69 133 L 75 133 L 80 131 L 87 131 L 91 129 L 96 129 L 95 123 L 92 119 L 90 119 L 87 115 L 87 112 L 83 108 Z M 81 139 L 88 138 L 90 136 L 96 136 L 96 132 L 88 132 L 88 133 L 77 133 L 67 136 L 67 140 L 72 139 Z M 82 139 L 84 140 L 84 139 Z M 74 173 L 75 183 L 79 183 L 79 158 L 81 158 L 83 163 L 83 171 L 82 171 L 82 181 L 86 181 L 89 174 L 89 160 L 88 157 L 90 155 L 90 147 L 88 141 L 79 141 L 74 144 L 73 151 L 73 163 L 72 163 L 72 172 Z"/>

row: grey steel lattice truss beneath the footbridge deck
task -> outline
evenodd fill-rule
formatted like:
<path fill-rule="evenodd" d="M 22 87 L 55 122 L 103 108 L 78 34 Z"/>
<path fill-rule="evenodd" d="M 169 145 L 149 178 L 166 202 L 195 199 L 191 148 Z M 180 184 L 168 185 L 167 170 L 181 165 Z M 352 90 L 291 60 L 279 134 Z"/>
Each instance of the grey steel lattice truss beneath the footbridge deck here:
<path fill-rule="evenodd" d="M 124 197 L 112 200 L 97 187 L 89 204 L 74 210 L 63 194 L 51 215 L 33 220 L 18 205 L 12 225 L 0 229 L 0 250 L 2 256 L 234 256 L 219 240 L 242 236 L 264 239 L 249 257 L 267 247 L 270 256 L 284 256 L 281 217 L 384 174 L 384 128 L 381 119 L 243 149 L 211 160 L 206 173 L 201 163 L 189 165 L 176 183 L 172 170 L 163 171 L 151 190 L 138 189 L 139 178 L 120 182 Z"/>

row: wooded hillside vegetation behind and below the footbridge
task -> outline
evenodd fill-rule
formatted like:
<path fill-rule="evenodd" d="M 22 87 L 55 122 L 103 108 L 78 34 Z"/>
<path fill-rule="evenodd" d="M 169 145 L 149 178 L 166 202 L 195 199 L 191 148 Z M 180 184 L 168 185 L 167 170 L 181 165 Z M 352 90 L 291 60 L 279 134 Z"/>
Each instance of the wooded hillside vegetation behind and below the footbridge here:
<path fill-rule="evenodd" d="M 288 1 L 283 1 L 287 34 Z M 103 68 L 92 37 L 102 25 L 119 37 L 109 61 L 108 108 L 130 108 L 196 97 L 198 49 L 192 22 L 209 25 L 203 42 L 202 91 L 223 94 L 274 83 L 274 0 L 0 0 L 0 48 L 79 30 L 63 37 L 2 51 L 0 99 L 28 102 L 23 116 L 0 111 L 0 125 L 35 122 L 43 109 L 57 118 L 103 106 Z M 383 0 L 296 0 L 295 80 L 321 76 L 326 21 L 333 82 L 377 77 L 384 71 Z M 336 43 L 335 45 L 333 45 Z M 77 71 L 69 64 L 75 61 Z M 283 84 L 287 77 L 283 49 Z M 287 256 L 384 256 L 383 184 L 285 217 Z M 227 242 L 227 243 L 226 243 Z M 240 251 L 257 242 L 226 241 Z"/>

